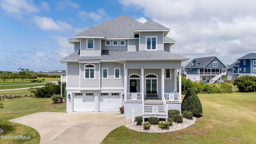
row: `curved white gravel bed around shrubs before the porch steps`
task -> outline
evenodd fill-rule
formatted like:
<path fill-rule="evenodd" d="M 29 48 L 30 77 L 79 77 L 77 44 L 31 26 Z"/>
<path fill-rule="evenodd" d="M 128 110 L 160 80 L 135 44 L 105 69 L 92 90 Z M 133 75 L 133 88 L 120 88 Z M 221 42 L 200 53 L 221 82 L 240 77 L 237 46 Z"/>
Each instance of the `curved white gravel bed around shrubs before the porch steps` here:
<path fill-rule="evenodd" d="M 195 124 L 196 118 L 193 117 L 192 120 L 188 120 L 186 118 L 183 118 L 182 123 L 176 123 L 173 122 L 172 126 L 169 127 L 168 130 L 162 130 L 161 128 L 158 128 L 158 125 L 151 125 L 149 130 L 143 130 L 143 124 L 137 125 L 136 123 L 134 124 L 126 124 L 124 125 L 126 128 L 129 128 L 131 130 L 135 130 L 137 132 L 145 132 L 145 133 L 163 133 L 163 132 L 172 132 L 176 130 L 181 130 L 184 128 L 187 128 L 193 124 Z"/>

